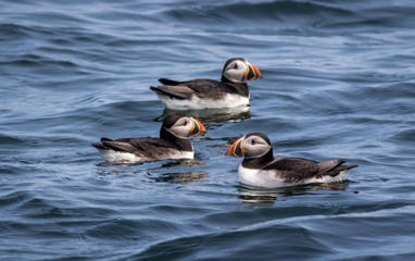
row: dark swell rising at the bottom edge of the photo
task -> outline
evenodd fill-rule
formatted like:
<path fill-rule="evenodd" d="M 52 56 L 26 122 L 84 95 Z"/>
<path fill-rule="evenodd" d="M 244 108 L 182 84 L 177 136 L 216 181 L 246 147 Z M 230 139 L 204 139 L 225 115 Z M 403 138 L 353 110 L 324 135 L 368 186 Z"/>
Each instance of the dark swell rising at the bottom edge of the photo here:
<path fill-rule="evenodd" d="M 278 252 L 269 246 L 278 246 Z M 301 260 L 334 252 L 328 245 L 313 239 L 313 233 L 306 228 L 291 225 L 275 225 L 227 233 L 216 232 L 204 235 L 180 237 L 154 244 L 147 250 L 129 257 L 152 260 L 247 260 L 247 253 L 255 259 L 274 260 L 275 257 L 291 257 Z M 251 256 L 251 257 L 253 257 Z M 128 259 L 128 260 L 129 260 Z"/>

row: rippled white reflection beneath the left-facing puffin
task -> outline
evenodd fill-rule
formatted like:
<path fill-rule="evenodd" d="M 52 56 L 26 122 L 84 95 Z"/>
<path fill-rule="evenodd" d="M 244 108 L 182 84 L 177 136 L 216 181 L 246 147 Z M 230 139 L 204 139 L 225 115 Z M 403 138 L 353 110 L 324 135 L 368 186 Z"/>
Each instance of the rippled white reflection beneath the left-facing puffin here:
<path fill-rule="evenodd" d="M 349 183 L 309 184 L 302 186 L 264 189 L 246 185 L 238 186 L 239 198 L 242 203 L 249 203 L 254 208 L 271 207 L 278 198 L 302 195 L 336 195 L 335 191 L 344 191 Z M 327 192 L 314 192 L 327 191 Z"/>

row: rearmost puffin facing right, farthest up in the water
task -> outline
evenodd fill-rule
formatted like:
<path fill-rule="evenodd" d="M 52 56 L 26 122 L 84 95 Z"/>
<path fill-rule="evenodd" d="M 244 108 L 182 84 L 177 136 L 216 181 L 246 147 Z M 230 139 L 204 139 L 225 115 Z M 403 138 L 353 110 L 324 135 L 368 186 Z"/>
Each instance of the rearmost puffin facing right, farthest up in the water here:
<path fill-rule="evenodd" d="M 262 78 L 260 70 L 244 58 L 226 61 L 221 82 L 197 78 L 178 82 L 160 78 L 163 86 L 150 89 L 171 110 L 203 110 L 235 108 L 249 104 L 247 80 Z"/>

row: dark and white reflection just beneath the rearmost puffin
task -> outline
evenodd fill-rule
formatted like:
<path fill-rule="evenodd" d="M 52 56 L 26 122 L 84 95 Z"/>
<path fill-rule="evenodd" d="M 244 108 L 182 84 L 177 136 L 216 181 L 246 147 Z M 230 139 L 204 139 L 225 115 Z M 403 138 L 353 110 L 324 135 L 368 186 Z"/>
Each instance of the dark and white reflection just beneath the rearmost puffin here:
<path fill-rule="evenodd" d="M 189 110 L 177 111 L 186 115 L 193 116 L 199 121 L 208 123 L 225 123 L 225 122 L 243 122 L 251 117 L 249 112 L 250 107 L 236 107 L 236 108 L 223 108 L 223 109 L 206 109 L 206 110 Z M 174 110 L 164 109 L 163 114 L 154 119 L 155 122 L 162 122 L 163 119 Z"/>

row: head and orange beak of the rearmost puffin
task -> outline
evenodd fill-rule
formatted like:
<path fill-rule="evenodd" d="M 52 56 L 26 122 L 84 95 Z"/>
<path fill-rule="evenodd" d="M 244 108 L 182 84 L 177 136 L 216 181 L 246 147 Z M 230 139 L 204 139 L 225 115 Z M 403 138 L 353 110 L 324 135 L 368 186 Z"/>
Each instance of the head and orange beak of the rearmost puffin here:
<path fill-rule="evenodd" d="M 232 83 L 246 83 L 262 78 L 260 70 L 244 58 L 231 58 L 226 61 L 222 76 Z"/>

